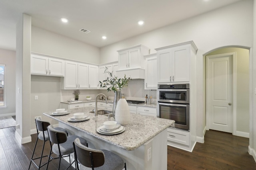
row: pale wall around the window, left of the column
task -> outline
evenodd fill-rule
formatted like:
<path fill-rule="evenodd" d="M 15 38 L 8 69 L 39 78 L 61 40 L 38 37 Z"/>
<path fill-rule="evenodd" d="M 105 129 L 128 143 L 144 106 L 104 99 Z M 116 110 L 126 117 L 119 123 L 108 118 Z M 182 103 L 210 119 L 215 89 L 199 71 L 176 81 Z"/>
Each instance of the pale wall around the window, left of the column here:
<path fill-rule="evenodd" d="M 0 64 L 5 64 L 4 90 L 6 91 L 6 108 L 0 108 L 1 115 L 15 115 L 15 71 L 16 71 L 16 52 L 0 49 Z"/>

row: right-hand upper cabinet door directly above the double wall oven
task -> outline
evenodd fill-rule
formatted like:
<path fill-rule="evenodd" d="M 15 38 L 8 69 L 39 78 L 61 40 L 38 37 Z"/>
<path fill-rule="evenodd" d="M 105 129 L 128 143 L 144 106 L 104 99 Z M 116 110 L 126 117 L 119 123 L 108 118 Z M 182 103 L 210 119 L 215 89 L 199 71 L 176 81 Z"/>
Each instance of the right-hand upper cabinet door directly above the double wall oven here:
<path fill-rule="evenodd" d="M 187 47 L 177 47 L 172 50 L 172 74 L 174 82 L 189 82 L 190 57 Z"/>

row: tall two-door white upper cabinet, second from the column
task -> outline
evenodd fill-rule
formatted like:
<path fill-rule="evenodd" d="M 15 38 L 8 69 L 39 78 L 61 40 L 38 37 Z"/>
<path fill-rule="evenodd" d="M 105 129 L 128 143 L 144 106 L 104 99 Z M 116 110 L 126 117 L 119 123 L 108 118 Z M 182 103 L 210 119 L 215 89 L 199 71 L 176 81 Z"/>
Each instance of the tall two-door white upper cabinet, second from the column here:
<path fill-rule="evenodd" d="M 66 61 L 65 88 L 88 88 L 88 65 Z"/>

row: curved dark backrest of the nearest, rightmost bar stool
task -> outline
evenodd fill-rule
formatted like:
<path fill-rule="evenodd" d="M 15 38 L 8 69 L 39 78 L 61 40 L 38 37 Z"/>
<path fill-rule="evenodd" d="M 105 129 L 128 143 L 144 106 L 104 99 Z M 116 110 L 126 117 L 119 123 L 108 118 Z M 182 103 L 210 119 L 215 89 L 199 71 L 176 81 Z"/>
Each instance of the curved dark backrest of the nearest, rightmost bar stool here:
<path fill-rule="evenodd" d="M 96 168 L 105 162 L 105 155 L 102 150 L 90 149 L 80 143 L 79 138 L 74 141 L 76 158 L 81 164 L 87 167 Z"/>

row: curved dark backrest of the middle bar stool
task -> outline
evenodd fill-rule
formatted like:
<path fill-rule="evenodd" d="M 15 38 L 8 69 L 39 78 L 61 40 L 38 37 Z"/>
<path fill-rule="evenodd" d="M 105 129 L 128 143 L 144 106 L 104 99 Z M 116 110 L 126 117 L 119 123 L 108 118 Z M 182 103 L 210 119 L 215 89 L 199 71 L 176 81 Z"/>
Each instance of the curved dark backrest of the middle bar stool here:
<path fill-rule="evenodd" d="M 67 141 L 68 137 L 65 132 L 54 129 L 52 125 L 49 125 L 47 129 L 51 143 L 60 144 Z"/>

